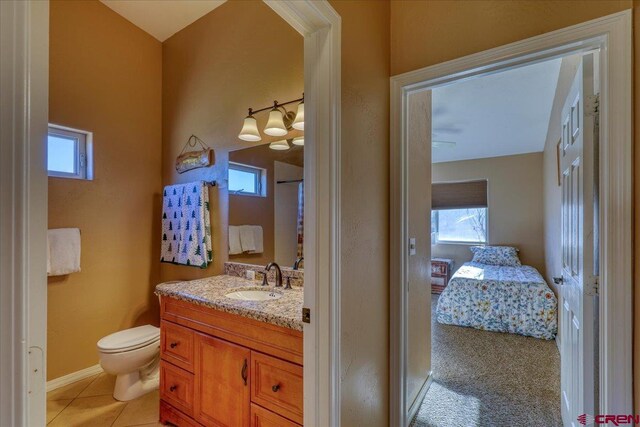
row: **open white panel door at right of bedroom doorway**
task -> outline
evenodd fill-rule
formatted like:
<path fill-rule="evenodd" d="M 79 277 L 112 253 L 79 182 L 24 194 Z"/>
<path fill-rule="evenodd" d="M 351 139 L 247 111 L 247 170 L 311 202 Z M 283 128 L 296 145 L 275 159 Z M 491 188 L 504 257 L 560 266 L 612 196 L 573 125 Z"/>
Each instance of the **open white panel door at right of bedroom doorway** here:
<path fill-rule="evenodd" d="M 595 402 L 593 54 L 584 55 L 562 109 L 561 399 L 565 426 L 593 416 Z"/>

